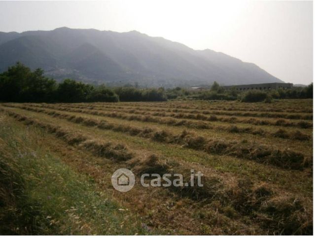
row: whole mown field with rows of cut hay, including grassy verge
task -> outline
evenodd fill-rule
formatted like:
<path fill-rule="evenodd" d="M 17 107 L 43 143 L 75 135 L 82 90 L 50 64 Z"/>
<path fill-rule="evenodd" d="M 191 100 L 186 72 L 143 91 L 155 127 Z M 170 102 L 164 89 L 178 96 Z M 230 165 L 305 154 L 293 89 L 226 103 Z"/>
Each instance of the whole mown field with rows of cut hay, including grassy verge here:
<path fill-rule="evenodd" d="M 313 100 L 1 103 L 0 159 L 7 234 L 313 234 Z"/>

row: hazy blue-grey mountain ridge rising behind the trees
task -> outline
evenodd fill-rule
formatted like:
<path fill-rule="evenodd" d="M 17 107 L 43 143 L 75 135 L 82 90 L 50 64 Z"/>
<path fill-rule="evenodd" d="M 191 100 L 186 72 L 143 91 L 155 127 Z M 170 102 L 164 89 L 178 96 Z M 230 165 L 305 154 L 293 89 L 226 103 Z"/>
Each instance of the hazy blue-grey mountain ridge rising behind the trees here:
<path fill-rule="evenodd" d="M 209 49 L 193 50 L 136 31 L 94 29 L 0 32 L 0 72 L 17 61 L 57 80 L 140 86 L 282 82 L 258 66 Z"/>

